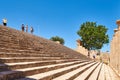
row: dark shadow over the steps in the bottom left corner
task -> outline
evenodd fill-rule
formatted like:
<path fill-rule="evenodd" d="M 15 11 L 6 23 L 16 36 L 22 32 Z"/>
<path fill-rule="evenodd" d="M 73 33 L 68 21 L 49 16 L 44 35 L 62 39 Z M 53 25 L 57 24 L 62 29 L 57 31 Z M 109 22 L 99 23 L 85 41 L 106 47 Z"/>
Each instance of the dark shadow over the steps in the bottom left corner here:
<path fill-rule="evenodd" d="M 6 65 L 4 63 L 4 60 L 0 59 L 0 80 L 17 80 L 19 78 L 24 78 L 24 77 L 25 74 L 23 72 L 10 69 L 10 66 Z M 35 79 L 26 78 L 24 80 L 35 80 Z"/>

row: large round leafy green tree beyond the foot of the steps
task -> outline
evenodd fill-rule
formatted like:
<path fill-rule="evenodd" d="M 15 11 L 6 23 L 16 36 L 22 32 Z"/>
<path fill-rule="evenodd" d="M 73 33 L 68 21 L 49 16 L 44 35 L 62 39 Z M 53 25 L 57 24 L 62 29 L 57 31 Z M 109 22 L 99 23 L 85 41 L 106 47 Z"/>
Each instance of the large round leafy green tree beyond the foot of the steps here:
<path fill-rule="evenodd" d="M 81 24 L 77 34 L 81 37 L 85 48 L 95 50 L 101 49 L 104 44 L 109 43 L 107 30 L 105 26 L 97 25 L 96 22 L 85 22 Z"/>

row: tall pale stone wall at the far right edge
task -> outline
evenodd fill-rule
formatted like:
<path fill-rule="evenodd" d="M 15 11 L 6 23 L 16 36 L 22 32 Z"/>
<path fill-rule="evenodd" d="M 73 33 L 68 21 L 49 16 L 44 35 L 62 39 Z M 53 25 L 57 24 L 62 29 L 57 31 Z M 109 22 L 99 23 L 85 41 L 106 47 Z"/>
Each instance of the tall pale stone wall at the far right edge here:
<path fill-rule="evenodd" d="M 114 36 L 111 41 L 110 49 L 110 65 L 113 69 L 120 74 L 120 25 L 114 30 Z"/>

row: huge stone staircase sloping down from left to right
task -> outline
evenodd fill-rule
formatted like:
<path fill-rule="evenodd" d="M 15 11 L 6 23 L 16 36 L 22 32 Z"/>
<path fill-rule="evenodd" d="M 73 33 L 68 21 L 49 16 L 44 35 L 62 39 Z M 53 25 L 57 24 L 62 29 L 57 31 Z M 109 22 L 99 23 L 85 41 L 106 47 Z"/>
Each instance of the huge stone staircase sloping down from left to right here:
<path fill-rule="evenodd" d="M 0 26 L 0 80 L 120 80 L 114 71 L 53 41 Z"/>

